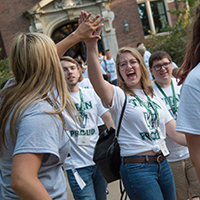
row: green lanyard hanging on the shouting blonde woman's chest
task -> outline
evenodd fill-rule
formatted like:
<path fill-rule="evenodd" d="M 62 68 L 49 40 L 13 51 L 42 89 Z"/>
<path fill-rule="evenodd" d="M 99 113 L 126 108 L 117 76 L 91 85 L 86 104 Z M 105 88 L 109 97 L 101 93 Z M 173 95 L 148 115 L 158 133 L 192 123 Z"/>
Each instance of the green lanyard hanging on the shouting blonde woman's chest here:
<path fill-rule="evenodd" d="M 144 94 L 147 96 L 148 99 L 148 104 L 151 106 L 151 108 L 153 109 L 154 113 L 152 112 L 151 109 L 148 108 L 148 106 L 144 103 L 144 101 L 142 101 L 137 95 L 136 95 L 136 99 L 139 101 L 140 105 L 144 106 L 147 110 L 147 112 L 151 115 L 151 119 L 152 119 L 152 124 L 153 124 L 153 128 L 155 128 L 157 130 L 158 126 L 159 126 L 159 114 L 158 114 L 158 110 L 157 108 L 154 106 L 154 103 L 151 101 L 151 99 L 149 98 L 149 96 L 144 92 Z M 156 123 L 157 122 L 157 123 Z"/>

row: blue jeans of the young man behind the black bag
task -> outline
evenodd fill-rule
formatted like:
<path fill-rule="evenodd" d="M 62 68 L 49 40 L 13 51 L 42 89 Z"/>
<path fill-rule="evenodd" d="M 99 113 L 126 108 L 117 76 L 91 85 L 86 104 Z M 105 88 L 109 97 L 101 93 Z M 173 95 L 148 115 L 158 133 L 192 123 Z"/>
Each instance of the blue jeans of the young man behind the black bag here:
<path fill-rule="evenodd" d="M 96 165 L 76 169 L 86 186 L 78 186 L 72 170 L 67 170 L 69 184 L 76 200 L 106 200 L 107 182 Z"/>

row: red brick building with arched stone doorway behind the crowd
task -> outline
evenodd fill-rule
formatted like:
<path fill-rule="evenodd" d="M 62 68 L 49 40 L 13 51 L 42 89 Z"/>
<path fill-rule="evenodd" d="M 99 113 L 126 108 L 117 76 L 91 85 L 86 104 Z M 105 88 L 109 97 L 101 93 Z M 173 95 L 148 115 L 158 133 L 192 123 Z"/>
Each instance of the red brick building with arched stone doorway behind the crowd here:
<path fill-rule="evenodd" d="M 81 10 L 105 18 L 99 50 L 110 49 L 113 56 L 122 46 L 135 47 L 148 30 L 162 33 L 163 21 L 176 20 L 167 10 L 174 9 L 173 0 L 1 0 L 0 58 L 7 57 L 14 36 L 20 32 L 42 32 L 55 43 L 78 26 Z M 83 42 L 69 55 L 85 55 Z"/>

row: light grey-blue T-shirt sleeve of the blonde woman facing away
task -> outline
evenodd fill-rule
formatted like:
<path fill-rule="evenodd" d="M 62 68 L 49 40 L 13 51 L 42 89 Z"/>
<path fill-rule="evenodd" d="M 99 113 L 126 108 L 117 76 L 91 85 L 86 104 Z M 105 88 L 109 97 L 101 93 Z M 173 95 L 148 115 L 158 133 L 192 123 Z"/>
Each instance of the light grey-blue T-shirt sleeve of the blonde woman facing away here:
<path fill-rule="evenodd" d="M 57 116 L 48 114 L 44 110 L 47 109 L 45 107 L 39 108 L 36 105 L 20 119 L 13 155 L 19 153 L 48 153 L 59 158 L 59 140 L 63 132 L 62 125 Z"/>

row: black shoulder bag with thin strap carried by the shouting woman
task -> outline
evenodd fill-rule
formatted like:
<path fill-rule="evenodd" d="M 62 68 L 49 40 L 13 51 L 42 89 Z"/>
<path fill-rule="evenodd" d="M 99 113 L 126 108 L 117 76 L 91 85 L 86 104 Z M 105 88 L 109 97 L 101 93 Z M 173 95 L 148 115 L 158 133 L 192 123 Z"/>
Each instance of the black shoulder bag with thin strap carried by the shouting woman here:
<path fill-rule="evenodd" d="M 117 127 L 117 133 L 115 135 L 115 129 L 105 130 L 99 136 L 94 149 L 93 161 L 103 174 L 108 183 L 120 179 L 120 147 L 118 144 L 119 129 L 121 126 L 124 109 L 126 107 L 126 95 L 122 108 L 121 116 L 119 119 L 119 125 Z"/>

